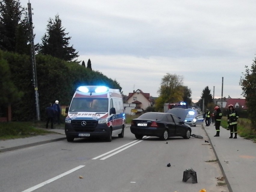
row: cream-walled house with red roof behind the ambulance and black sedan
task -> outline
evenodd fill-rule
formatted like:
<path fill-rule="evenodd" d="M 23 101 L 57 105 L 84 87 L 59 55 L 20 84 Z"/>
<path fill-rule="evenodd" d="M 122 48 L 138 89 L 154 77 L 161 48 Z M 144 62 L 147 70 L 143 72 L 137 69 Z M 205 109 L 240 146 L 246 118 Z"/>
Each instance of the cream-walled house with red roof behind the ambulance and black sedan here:
<path fill-rule="evenodd" d="M 151 106 L 152 101 L 149 93 L 143 93 L 142 90 L 137 89 L 136 91 L 133 91 L 133 93 L 129 93 L 126 103 L 136 104 L 136 109 L 145 110 Z"/>

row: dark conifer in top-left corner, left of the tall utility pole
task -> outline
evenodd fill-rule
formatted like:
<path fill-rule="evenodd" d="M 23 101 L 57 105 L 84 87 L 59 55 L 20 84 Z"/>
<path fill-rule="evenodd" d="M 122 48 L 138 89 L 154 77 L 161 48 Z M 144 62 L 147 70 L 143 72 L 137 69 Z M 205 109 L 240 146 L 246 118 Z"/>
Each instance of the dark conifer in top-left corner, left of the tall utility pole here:
<path fill-rule="evenodd" d="M 19 0 L 0 1 L 0 49 L 29 55 L 29 25 Z"/>

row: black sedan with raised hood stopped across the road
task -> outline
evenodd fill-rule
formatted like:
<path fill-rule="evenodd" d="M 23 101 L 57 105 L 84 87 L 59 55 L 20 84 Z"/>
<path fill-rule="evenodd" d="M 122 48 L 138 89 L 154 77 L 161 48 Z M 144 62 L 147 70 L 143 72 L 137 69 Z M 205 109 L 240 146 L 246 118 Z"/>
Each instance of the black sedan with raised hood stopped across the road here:
<path fill-rule="evenodd" d="M 147 112 L 142 114 L 132 120 L 131 132 L 137 139 L 142 139 L 143 136 L 156 136 L 161 140 L 177 136 L 189 139 L 191 128 L 184 123 L 187 111 L 182 108 L 174 109 L 174 113 Z"/>

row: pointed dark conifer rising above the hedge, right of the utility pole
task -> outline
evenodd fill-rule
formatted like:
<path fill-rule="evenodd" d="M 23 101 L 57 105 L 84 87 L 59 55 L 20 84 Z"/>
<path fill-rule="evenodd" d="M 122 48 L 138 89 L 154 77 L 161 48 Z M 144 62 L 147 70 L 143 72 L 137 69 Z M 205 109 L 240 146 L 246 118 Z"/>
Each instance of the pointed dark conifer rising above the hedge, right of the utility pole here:
<path fill-rule="evenodd" d="M 47 32 L 42 37 L 42 44 L 39 46 L 39 53 L 51 55 L 64 61 L 77 61 L 78 52 L 72 46 L 69 46 L 71 37 L 66 37 L 62 27 L 61 19 L 57 14 L 55 19 L 49 19 Z M 75 60 L 74 60 L 75 59 Z"/>

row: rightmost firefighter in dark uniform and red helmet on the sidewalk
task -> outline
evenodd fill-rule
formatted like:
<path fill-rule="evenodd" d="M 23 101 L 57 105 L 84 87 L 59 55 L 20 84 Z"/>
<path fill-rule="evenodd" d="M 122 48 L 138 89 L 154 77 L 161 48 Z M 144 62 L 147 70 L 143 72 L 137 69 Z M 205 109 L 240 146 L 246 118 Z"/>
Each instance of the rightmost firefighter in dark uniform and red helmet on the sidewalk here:
<path fill-rule="evenodd" d="M 233 133 L 235 133 L 234 139 L 237 139 L 237 119 L 238 114 L 234 109 L 234 106 L 232 104 L 228 105 L 229 112 L 227 114 L 227 123 L 229 124 L 230 129 L 230 139 L 233 138 Z"/>

